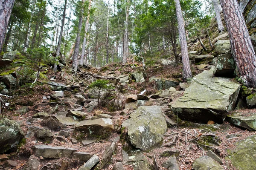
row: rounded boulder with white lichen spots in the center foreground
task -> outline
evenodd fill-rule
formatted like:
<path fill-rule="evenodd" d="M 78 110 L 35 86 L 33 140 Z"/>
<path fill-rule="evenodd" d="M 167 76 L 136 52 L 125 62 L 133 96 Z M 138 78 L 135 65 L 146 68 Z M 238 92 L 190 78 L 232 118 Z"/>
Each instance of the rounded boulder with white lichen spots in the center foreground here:
<path fill-rule="evenodd" d="M 127 127 L 131 144 L 141 150 L 159 144 L 167 130 L 163 112 L 158 106 L 139 107 L 123 122 L 122 127 Z"/>

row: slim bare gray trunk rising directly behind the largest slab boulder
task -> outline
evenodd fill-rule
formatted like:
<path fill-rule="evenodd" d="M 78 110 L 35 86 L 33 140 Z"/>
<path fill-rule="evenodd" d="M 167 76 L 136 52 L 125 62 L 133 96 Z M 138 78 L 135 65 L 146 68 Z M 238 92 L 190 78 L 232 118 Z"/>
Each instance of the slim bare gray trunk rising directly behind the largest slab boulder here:
<path fill-rule="evenodd" d="M 182 55 L 182 64 L 183 64 L 183 80 L 187 80 L 192 78 L 192 73 L 189 66 L 189 53 L 188 53 L 188 46 L 186 42 L 186 32 L 183 23 L 183 17 L 180 7 L 180 0 L 175 0 L 176 4 L 176 14 L 177 14 L 177 21 L 178 21 L 178 28 L 179 28 L 179 35 L 180 35 L 180 49 Z"/>

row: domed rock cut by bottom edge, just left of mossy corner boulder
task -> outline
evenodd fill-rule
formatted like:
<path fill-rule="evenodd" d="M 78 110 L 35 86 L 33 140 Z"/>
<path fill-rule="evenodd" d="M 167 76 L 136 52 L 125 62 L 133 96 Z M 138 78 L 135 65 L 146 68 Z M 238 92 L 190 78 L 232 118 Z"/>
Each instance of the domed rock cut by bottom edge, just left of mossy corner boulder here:
<path fill-rule="evenodd" d="M 195 159 L 192 163 L 193 170 L 224 170 L 220 164 L 215 162 L 209 156 L 201 156 L 200 158 Z"/>

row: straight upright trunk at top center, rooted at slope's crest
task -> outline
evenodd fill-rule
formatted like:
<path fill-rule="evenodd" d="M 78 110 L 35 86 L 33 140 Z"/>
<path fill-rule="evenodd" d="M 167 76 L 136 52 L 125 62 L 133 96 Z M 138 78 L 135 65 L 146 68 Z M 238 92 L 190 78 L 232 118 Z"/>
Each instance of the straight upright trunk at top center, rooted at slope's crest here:
<path fill-rule="evenodd" d="M 125 11 L 125 37 L 124 37 L 124 48 L 123 48 L 123 63 L 126 63 L 129 53 L 128 47 L 128 24 L 129 24 L 129 3 L 130 0 L 126 3 L 126 11 Z"/>

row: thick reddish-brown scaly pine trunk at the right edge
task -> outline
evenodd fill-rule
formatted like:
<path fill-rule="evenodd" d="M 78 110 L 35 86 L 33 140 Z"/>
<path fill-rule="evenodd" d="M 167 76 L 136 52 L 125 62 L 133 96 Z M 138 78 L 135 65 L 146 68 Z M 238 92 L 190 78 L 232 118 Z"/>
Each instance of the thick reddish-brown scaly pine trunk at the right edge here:
<path fill-rule="evenodd" d="M 246 86 L 256 88 L 256 56 L 237 0 L 220 0 L 236 61 L 238 77 Z"/>

